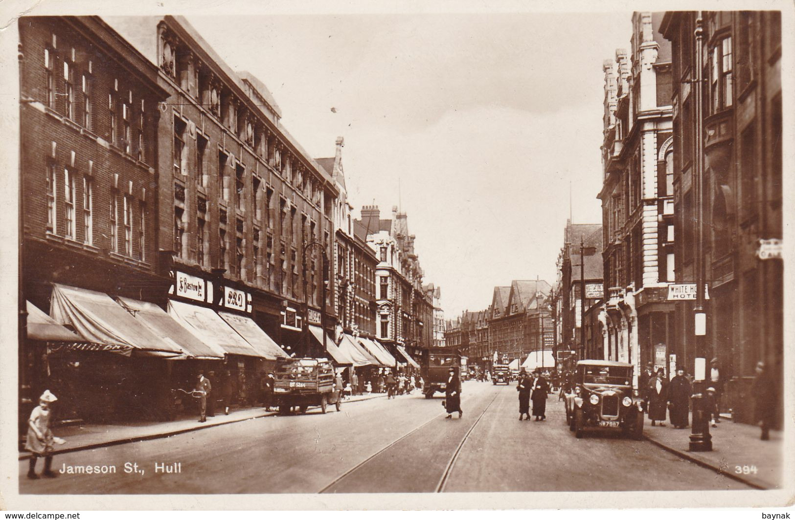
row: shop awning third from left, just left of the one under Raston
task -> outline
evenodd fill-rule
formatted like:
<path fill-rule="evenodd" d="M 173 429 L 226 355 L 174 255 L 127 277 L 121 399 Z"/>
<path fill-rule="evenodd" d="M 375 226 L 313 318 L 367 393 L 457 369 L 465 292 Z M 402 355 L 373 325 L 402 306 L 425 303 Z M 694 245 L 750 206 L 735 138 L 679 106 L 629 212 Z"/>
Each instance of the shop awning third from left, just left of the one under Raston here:
<path fill-rule="evenodd" d="M 165 341 L 176 345 L 187 357 L 203 359 L 222 358 L 223 352 L 214 350 L 195 334 L 176 322 L 165 310 L 154 303 L 132 298 L 116 298 L 119 305 L 130 310 L 133 318 Z"/>

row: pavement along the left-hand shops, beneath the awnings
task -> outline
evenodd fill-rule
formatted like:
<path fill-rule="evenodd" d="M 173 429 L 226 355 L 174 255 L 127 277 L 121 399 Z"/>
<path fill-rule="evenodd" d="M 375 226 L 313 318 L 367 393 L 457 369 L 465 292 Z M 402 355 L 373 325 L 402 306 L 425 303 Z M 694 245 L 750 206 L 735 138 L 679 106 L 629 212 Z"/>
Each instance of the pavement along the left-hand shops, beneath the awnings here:
<path fill-rule="evenodd" d="M 347 403 L 367 401 L 386 397 L 386 394 L 365 394 L 355 395 L 351 399 L 343 401 L 343 406 Z M 333 407 L 333 406 L 332 406 Z M 215 417 L 207 417 L 207 422 L 199 422 L 198 415 L 192 414 L 184 418 L 169 422 L 138 422 L 134 424 L 79 424 L 70 426 L 56 426 L 53 433 L 56 437 L 66 440 L 64 445 L 56 445 L 53 455 L 60 453 L 76 452 L 83 449 L 100 448 L 126 444 L 135 441 L 147 441 L 161 437 L 170 437 L 178 433 L 195 431 L 197 429 L 211 428 L 231 422 L 247 421 L 249 419 L 276 415 L 277 412 L 269 412 L 262 407 L 243 408 L 230 411 L 229 415 L 224 415 L 223 410 L 218 413 L 215 410 Z M 30 453 L 20 452 L 19 460 L 29 459 Z"/>

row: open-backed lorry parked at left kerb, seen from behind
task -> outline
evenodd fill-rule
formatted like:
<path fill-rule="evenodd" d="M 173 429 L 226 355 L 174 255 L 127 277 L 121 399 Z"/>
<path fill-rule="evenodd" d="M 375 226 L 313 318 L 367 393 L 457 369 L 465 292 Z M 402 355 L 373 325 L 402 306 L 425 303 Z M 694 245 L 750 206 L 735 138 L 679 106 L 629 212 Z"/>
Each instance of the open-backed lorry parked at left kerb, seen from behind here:
<path fill-rule="evenodd" d="M 305 414 L 309 406 L 320 406 L 320 412 L 325 414 L 328 405 L 335 405 L 337 411 L 342 406 L 329 360 L 279 358 L 273 377 L 273 399 L 281 415 L 289 414 L 295 407 Z"/>

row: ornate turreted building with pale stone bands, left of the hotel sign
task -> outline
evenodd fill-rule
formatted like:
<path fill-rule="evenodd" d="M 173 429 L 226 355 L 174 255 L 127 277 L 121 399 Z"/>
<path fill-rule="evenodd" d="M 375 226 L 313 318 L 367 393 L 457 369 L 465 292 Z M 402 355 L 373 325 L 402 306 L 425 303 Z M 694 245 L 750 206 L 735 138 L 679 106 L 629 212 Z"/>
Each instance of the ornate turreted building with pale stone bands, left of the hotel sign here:
<path fill-rule="evenodd" d="M 634 13 L 632 48 L 604 63 L 603 214 L 605 351 L 639 367 L 673 344 L 671 46 L 663 13 Z M 667 368 L 667 367 L 666 367 Z"/>

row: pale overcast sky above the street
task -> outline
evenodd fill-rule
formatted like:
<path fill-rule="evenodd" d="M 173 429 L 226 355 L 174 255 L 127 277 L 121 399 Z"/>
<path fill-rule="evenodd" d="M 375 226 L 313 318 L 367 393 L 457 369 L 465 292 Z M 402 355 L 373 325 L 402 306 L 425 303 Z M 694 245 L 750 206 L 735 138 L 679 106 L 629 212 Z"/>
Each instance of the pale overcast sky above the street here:
<path fill-rule="evenodd" d="M 189 16 L 227 64 L 270 88 L 314 157 L 343 164 L 355 215 L 408 214 L 446 317 L 495 285 L 554 283 L 572 186 L 600 222 L 602 62 L 631 13 Z M 332 111 L 332 107 L 335 111 Z"/>

